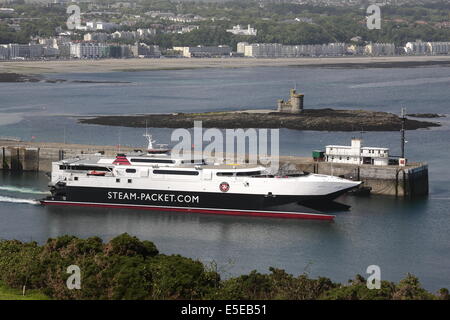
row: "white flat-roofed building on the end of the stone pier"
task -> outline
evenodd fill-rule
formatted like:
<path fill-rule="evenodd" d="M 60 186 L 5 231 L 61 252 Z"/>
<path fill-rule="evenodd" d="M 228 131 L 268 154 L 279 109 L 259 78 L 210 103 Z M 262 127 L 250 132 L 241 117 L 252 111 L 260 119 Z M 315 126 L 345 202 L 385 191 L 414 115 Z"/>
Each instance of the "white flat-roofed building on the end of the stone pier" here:
<path fill-rule="evenodd" d="M 353 138 L 350 146 L 326 146 L 325 161 L 332 163 L 387 166 L 389 164 L 389 149 L 379 147 L 363 147 L 362 139 Z"/>

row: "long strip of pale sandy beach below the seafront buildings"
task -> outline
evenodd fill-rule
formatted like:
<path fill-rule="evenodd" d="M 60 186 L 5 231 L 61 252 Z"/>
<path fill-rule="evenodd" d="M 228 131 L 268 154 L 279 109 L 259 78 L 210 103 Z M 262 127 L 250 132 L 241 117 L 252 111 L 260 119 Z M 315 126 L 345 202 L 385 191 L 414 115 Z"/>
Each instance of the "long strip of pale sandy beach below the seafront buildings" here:
<path fill-rule="evenodd" d="M 330 57 L 330 58 L 178 58 L 104 59 L 63 61 L 4 61 L 1 72 L 21 74 L 88 73 L 111 71 L 179 70 L 199 68 L 247 68 L 282 66 L 317 67 L 417 67 L 450 65 L 450 56 Z"/>

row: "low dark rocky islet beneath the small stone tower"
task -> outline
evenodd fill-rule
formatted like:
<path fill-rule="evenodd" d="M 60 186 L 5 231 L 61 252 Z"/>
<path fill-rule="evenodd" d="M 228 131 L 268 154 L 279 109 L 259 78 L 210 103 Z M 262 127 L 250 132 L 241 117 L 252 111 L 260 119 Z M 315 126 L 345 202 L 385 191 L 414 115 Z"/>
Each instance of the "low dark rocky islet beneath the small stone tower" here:
<path fill-rule="evenodd" d="M 313 131 L 398 131 L 401 118 L 388 112 L 365 110 L 307 109 L 300 114 L 279 112 L 206 112 L 127 116 L 99 116 L 79 119 L 86 124 L 144 128 L 192 128 L 202 121 L 204 128 L 286 128 Z M 406 129 L 440 126 L 437 122 L 406 120 Z"/>

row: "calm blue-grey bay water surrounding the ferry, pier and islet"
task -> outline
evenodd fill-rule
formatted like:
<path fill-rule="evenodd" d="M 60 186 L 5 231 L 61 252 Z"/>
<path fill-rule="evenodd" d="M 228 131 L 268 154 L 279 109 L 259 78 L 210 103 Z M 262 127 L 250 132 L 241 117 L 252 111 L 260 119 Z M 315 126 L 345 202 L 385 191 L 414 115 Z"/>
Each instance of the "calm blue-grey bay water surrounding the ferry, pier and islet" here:
<path fill-rule="evenodd" d="M 58 74 L 51 78 L 130 83 L 0 84 L 0 136 L 38 141 L 145 145 L 142 129 L 80 125 L 77 115 L 195 112 L 274 108 L 294 85 L 307 108 L 352 108 L 408 113 L 450 113 L 450 68 L 248 68 Z M 404 201 L 345 196 L 352 206 L 334 223 L 153 211 L 55 209 L 33 204 L 44 196 L 43 174 L 0 172 L 0 238 L 36 240 L 74 234 L 108 240 L 128 232 L 154 241 L 164 253 L 215 260 L 224 276 L 267 272 L 347 281 L 367 266 L 398 281 L 414 273 L 425 288 L 450 287 L 450 120 L 441 128 L 407 132 L 407 156 L 430 166 L 430 195 Z M 360 128 L 356 128 L 359 130 Z M 152 129 L 170 143 L 170 129 Z M 349 144 L 361 133 L 280 130 L 282 154 L 309 156 L 327 144 Z M 367 132 L 366 145 L 399 154 L 396 132 Z"/>

